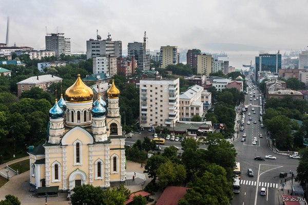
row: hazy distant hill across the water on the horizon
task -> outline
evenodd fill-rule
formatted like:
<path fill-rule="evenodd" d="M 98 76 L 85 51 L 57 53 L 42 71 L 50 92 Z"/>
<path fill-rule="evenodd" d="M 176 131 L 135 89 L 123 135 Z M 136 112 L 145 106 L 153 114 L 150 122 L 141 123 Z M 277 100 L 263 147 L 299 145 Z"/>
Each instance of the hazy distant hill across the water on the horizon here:
<path fill-rule="evenodd" d="M 244 44 L 233 44 L 233 43 L 206 43 L 203 44 L 204 49 L 202 50 L 213 50 L 213 51 L 258 51 L 268 50 L 268 48 L 249 46 Z"/>

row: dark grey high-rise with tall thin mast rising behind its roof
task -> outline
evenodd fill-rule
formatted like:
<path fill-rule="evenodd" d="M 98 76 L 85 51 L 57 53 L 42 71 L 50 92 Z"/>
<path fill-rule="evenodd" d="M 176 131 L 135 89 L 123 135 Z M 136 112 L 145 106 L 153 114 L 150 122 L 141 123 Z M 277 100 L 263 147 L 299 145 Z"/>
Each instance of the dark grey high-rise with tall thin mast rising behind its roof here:
<path fill-rule="evenodd" d="M 140 70 L 150 69 L 150 50 L 145 48 L 144 43 L 128 43 L 127 52 L 130 56 L 134 55 Z"/>

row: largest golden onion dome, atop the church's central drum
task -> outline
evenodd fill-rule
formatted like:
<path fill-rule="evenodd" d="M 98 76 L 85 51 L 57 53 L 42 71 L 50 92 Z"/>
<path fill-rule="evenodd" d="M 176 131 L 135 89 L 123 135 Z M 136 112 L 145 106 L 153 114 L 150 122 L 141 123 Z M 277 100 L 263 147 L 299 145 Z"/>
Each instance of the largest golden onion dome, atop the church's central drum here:
<path fill-rule="evenodd" d="M 91 102 L 93 99 L 93 90 L 82 82 L 80 74 L 78 74 L 76 82 L 65 91 L 65 99 L 66 102 L 70 103 Z"/>

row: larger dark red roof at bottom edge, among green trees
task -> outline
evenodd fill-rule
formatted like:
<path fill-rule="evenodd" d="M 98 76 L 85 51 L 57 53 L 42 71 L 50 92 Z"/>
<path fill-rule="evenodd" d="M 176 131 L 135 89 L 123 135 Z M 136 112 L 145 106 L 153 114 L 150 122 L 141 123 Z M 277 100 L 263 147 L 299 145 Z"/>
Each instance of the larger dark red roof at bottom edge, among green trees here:
<path fill-rule="evenodd" d="M 187 189 L 186 187 L 167 187 L 156 204 L 177 205 L 179 200 L 184 198 Z"/>

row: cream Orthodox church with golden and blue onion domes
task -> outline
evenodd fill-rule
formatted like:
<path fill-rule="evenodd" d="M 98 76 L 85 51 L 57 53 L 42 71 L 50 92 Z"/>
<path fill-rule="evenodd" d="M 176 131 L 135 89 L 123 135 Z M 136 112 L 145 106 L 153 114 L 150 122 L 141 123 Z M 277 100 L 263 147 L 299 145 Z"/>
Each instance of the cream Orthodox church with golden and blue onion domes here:
<path fill-rule="evenodd" d="M 30 184 L 72 190 L 92 184 L 108 188 L 125 181 L 125 136 L 119 111 L 120 91 L 107 90 L 108 108 L 78 74 L 76 82 L 49 110 L 47 139 L 29 151 Z"/>

